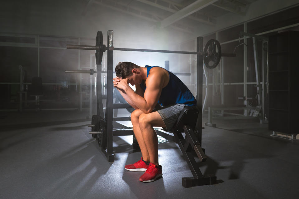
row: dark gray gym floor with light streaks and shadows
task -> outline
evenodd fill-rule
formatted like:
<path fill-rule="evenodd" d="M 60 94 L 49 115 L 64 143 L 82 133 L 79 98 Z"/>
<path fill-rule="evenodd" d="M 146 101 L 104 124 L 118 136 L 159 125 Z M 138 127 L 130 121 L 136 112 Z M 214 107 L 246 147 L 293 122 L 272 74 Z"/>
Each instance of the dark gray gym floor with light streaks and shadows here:
<path fill-rule="evenodd" d="M 213 119 L 217 127 L 202 130 L 208 160 L 200 168 L 217 184 L 184 188 L 182 177 L 192 174 L 176 143 L 159 137 L 163 177 L 141 183 L 143 172 L 124 169 L 141 157 L 132 136 L 113 138 L 115 161 L 107 162 L 86 115 L 0 112 L 0 198 L 298 197 L 299 141 L 269 136 L 258 120 Z"/>

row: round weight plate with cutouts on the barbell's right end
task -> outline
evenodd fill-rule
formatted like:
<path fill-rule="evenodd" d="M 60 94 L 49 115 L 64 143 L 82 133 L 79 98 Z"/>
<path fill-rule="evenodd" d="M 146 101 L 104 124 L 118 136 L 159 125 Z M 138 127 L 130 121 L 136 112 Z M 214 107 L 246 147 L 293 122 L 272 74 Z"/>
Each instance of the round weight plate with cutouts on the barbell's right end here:
<path fill-rule="evenodd" d="M 210 39 L 205 46 L 203 62 L 207 68 L 216 68 L 221 58 L 221 46 L 216 39 Z"/>

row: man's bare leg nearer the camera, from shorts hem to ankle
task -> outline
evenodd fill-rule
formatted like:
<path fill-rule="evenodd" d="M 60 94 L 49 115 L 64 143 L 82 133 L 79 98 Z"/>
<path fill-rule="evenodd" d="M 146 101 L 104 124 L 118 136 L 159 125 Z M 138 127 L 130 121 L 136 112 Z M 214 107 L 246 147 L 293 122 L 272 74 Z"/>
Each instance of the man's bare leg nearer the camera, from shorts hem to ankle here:
<path fill-rule="evenodd" d="M 158 166 L 158 137 L 153 127 L 165 127 L 160 114 L 157 111 L 152 113 L 141 113 L 139 116 L 139 127 L 150 162 Z"/>

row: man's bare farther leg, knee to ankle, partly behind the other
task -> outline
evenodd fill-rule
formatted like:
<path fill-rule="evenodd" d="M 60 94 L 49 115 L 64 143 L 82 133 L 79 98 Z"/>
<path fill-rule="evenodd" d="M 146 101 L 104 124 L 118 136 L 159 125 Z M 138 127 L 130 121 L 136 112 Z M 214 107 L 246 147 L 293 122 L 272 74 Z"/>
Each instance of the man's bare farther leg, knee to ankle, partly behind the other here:
<path fill-rule="evenodd" d="M 139 127 L 139 116 L 142 114 L 143 112 L 140 109 L 136 109 L 131 113 L 131 122 L 133 125 L 133 131 L 135 134 L 135 137 L 137 139 L 137 142 L 139 144 L 140 150 L 141 150 L 141 154 L 142 154 L 142 159 L 144 161 L 150 161 L 150 156 L 148 153 L 148 150 L 145 146 L 145 142 Z"/>

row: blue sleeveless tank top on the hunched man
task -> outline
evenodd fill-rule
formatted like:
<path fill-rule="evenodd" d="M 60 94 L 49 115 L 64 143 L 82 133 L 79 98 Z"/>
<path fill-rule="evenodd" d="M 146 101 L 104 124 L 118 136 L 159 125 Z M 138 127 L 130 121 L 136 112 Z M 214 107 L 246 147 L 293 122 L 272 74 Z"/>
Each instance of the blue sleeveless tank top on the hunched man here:
<path fill-rule="evenodd" d="M 150 69 L 157 66 L 145 66 L 147 68 L 147 77 Z M 159 67 L 159 66 L 158 66 Z M 166 69 L 165 69 L 166 70 Z M 158 104 L 167 106 L 169 104 L 186 104 L 187 106 L 196 106 L 196 99 L 187 88 L 187 86 L 172 72 L 169 72 L 169 82 L 162 89 Z M 146 86 L 142 82 L 140 87 L 145 90 Z"/>

